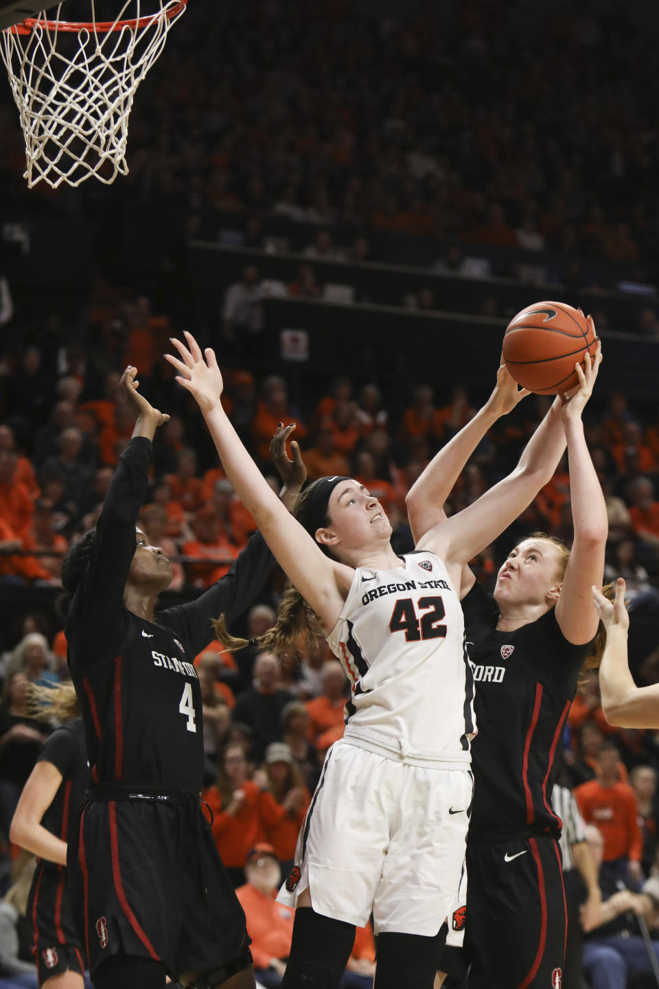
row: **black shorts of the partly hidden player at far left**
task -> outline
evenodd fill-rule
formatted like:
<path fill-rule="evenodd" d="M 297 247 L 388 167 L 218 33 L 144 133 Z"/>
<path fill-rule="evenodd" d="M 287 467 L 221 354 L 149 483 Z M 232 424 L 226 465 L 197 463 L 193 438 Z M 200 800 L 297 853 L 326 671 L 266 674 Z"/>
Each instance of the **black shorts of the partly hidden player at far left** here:
<path fill-rule="evenodd" d="M 40 986 L 62 972 L 85 970 L 84 951 L 71 911 L 66 869 L 40 860 L 32 880 L 26 916 Z"/>

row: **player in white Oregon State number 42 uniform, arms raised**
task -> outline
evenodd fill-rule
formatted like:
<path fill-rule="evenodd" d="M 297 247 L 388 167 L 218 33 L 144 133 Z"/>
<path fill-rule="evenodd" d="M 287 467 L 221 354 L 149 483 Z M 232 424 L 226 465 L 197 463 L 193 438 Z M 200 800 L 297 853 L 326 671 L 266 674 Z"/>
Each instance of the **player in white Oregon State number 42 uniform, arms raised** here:
<path fill-rule="evenodd" d="M 314 482 L 292 518 L 222 409 L 213 351 L 203 354 L 189 333 L 186 339 L 188 346 L 173 340 L 179 356 L 167 359 L 292 584 L 271 641 L 283 650 L 309 636 L 315 616 L 353 681 L 345 737 L 328 752 L 280 894 L 297 907 L 283 987 L 334 989 L 355 926 L 372 911 L 376 989 L 430 989 L 436 936 L 463 873 L 472 798 L 475 728 L 460 575 L 528 495 L 515 478 L 505 479 L 431 528 L 403 558 L 391 547 L 377 499 L 352 478 Z M 500 400 L 513 407 L 524 394 L 510 380 Z M 563 442 L 557 432 L 545 421 L 534 440 L 551 452 Z"/>

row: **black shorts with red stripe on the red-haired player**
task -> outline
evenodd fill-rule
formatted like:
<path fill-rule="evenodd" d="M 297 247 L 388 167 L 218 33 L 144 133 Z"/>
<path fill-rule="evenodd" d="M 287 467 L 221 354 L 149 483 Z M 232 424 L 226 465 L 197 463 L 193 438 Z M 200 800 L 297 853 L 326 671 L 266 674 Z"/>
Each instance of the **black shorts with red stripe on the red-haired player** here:
<path fill-rule="evenodd" d="M 567 927 L 558 842 L 469 843 L 466 867 L 469 989 L 561 989 Z"/>

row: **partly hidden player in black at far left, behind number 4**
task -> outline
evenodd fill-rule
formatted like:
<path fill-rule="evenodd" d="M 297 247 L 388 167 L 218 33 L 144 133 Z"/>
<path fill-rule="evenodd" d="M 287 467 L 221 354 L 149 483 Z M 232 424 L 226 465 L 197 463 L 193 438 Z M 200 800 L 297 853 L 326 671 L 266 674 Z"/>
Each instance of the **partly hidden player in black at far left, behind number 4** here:
<path fill-rule="evenodd" d="M 70 684 L 32 684 L 36 716 L 57 718 L 18 802 L 10 838 L 38 855 L 26 916 L 41 989 L 82 989 L 85 951 L 77 935 L 66 870 L 68 827 L 82 803 L 87 777 L 85 737 Z M 55 978 L 56 976 L 56 978 Z"/>

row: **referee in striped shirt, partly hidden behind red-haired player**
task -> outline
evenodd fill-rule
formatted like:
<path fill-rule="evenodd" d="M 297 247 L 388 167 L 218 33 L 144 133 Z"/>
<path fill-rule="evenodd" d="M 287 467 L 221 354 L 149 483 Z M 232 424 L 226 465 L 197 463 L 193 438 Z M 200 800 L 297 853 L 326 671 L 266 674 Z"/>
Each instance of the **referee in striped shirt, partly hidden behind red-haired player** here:
<path fill-rule="evenodd" d="M 586 826 L 572 791 L 567 786 L 555 784 L 551 805 L 563 822 L 560 851 L 567 906 L 567 944 L 562 989 L 580 989 L 583 931 L 590 931 L 597 924 L 602 892 L 588 849 Z"/>

